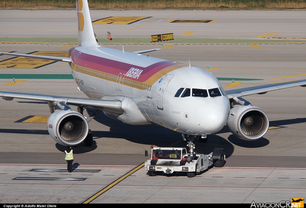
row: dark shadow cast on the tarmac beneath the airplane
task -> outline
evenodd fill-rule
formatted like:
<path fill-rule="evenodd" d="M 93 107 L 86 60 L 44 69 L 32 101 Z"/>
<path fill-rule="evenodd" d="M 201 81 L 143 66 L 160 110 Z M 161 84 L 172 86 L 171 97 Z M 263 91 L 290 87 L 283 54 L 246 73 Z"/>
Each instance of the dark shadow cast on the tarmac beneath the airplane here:
<path fill-rule="evenodd" d="M 88 112 L 89 114 L 92 114 Z M 186 147 L 186 143 L 183 141 L 181 134 L 171 131 L 169 129 L 159 127 L 157 125 L 130 125 L 124 124 L 121 121 L 111 119 L 99 113 L 95 118 L 97 122 L 110 127 L 110 131 L 92 131 L 94 136 L 94 142 L 91 147 L 86 147 L 84 143 L 74 147 L 74 153 L 90 152 L 97 148 L 95 140 L 99 138 L 123 138 L 130 142 L 156 145 L 159 147 Z M 288 124 L 306 123 L 306 118 L 296 118 L 288 120 L 271 121 L 271 126 L 281 126 Z M 230 132 L 227 127 L 224 127 L 216 134 L 209 135 L 206 143 L 194 141 L 196 144 L 196 152 L 208 154 L 213 151 L 214 148 L 220 147 L 225 149 L 226 157 L 229 157 L 233 153 L 233 144 L 245 147 L 245 148 L 258 148 L 269 144 L 266 138 L 261 138 L 256 141 L 241 140 L 234 135 L 230 135 L 228 140 L 218 136 L 217 134 Z M 43 134 L 47 135 L 47 130 L 29 130 L 29 129 L 0 129 L 0 133 L 18 133 L 18 134 Z M 233 143 L 233 144 L 232 144 Z M 65 146 L 56 144 L 56 148 L 62 152 L 65 151 Z"/>

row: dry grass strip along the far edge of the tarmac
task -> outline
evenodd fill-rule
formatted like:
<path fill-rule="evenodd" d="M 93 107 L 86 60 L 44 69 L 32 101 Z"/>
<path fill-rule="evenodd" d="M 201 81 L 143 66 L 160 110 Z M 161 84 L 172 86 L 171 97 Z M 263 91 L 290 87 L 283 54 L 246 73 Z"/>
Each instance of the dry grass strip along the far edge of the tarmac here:
<path fill-rule="evenodd" d="M 305 9 L 305 0 L 88 0 L 95 9 Z M 72 0 L 3 0 L 0 7 L 76 8 Z"/>

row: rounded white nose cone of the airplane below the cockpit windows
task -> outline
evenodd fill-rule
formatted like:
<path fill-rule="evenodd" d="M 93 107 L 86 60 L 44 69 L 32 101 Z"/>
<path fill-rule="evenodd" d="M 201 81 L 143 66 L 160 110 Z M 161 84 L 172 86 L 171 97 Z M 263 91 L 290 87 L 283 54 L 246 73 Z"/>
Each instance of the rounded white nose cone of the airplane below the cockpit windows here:
<path fill-rule="evenodd" d="M 222 129 L 228 118 L 228 110 L 219 103 L 207 103 L 196 110 L 196 121 L 205 133 Z"/>

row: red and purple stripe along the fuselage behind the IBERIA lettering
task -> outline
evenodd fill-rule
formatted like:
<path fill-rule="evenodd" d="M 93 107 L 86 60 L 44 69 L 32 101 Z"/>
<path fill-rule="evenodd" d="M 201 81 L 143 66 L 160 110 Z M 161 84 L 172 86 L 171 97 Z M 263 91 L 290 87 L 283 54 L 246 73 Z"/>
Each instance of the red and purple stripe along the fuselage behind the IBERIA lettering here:
<path fill-rule="evenodd" d="M 133 74 L 131 74 L 133 76 L 129 77 L 129 79 L 139 81 L 139 82 L 147 81 L 154 74 L 156 74 L 157 72 L 163 70 L 164 68 L 168 66 L 174 66 L 177 64 L 181 64 L 181 63 L 173 63 L 172 61 L 161 61 L 161 62 L 154 63 L 147 67 L 141 67 L 141 66 L 136 66 L 136 65 L 120 62 L 120 61 L 115 61 L 112 59 L 106 59 L 103 57 L 86 54 L 83 52 L 81 52 L 81 54 L 77 56 L 78 53 L 79 51 L 76 50 L 75 48 L 71 48 L 69 50 L 69 56 L 71 56 L 72 62 L 74 64 L 81 66 L 81 67 L 87 67 L 89 69 L 94 69 L 100 72 L 113 74 L 113 75 L 118 75 L 120 73 L 122 74 L 134 73 L 135 75 L 136 72 L 135 70 L 134 72 L 132 72 L 132 68 L 139 69 L 138 72 L 140 72 L 140 70 L 143 70 L 140 72 L 141 76 L 139 76 L 140 74 L 138 74 L 138 76 L 136 75 L 134 76 Z"/>

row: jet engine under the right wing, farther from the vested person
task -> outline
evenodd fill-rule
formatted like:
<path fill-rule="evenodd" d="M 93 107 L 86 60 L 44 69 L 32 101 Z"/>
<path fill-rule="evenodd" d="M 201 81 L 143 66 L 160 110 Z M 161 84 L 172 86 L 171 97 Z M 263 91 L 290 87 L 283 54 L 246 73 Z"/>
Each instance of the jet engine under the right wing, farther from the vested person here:
<path fill-rule="evenodd" d="M 269 119 L 259 107 L 235 105 L 230 109 L 226 125 L 238 138 L 252 141 L 262 138 L 267 133 Z"/>

